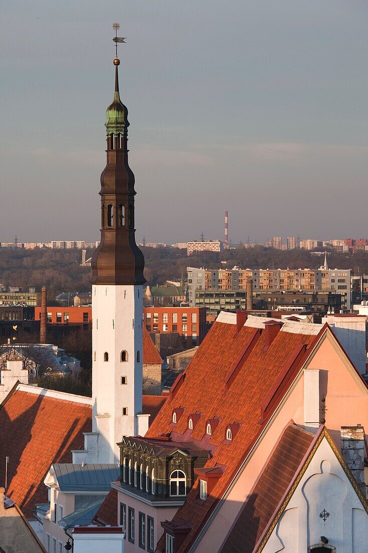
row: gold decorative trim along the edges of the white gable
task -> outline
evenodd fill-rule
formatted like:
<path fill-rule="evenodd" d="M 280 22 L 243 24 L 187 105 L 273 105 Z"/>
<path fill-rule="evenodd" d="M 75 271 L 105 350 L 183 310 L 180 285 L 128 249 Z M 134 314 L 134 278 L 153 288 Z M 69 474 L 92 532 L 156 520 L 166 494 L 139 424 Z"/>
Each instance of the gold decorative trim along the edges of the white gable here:
<path fill-rule="evenodd" d="M 316 444 L 314 444 L 311 452 L 309 453 L 308 455 L 308 458 L 306 459 L 306 462 L 304 462 L 304 465 L 303 467 L 301 468 L 301 470 L 299 471 L 295 481 L 293 482 L 290 490 L 288 491 L 285 499 L 283 500 L 280 508 L 278 509 L 274 519 L 272 520 L 272 523 L 270 524 L 269 526 L 269 529 L 267 530 L 267 533 L 266 535 L 264 536 L 264 538 L 262 539 L 260 545 L 257 547 L 257 549 L 254 551 L 254 553 L 260 553 L 267 541 L 269 540 L 272 532 L 274 531 L 275 529 L 275 526 L 276 524 L 278 523 L 278 520 L 280 520 L 280 517 L 282 515 L 282 513 L 284 512 L 287 504 L 290 502 L 290 499 L 292 498 L 292 495 L 294 494 L 296 488 L 298 487 L 298 484 L 299 482 L 301 481 L 304 473 L 306 472 L 308 466 L 309 466 L 309 463 L 312 461 L 312 458 L 314 456 L 314 453 L 316 453 L 316 451 L 318 450 L 318 447 L 320 445 L 320 443 L 322 442 L 323 439 L 326 439 L 330 445 L 330 447 L 332 448 L 333 452 L 335 453 L 335 456 L 338 458 L 338 461 L 341 465 L 341 468 L 343 468 L 343 471 L 345 472 L 346 476 L 348 477 L 349 481 L 350 481 L 350 484 L 353 486 L 356 494 L 358 495 L 360 501 L 361 501 L 361 504 L 363 505 L 366 513 L 368 514 L 368 503 L 366 501 L 366 499 L 364 498 L 364 495 L 361 493 L 361 490 L 358 486 L 358 483 L 356 482 L 353 474 L 351 474 L 351 471 L 349 469 L 349 467 L 346 465 L 343 457 L 341 456 L 341 453 L 338 449 L 338 447 L 336 446 L 335 442 L 333 441 L 332 437 L 330 436 L 329 434 L 329 431 L 327 430 L 326 427 L 324 427 L 324 429 L 322 430 L 322 432 L 320 433 L 320 435 L 318 436 L 318 440 L 316 441 Z"/>

